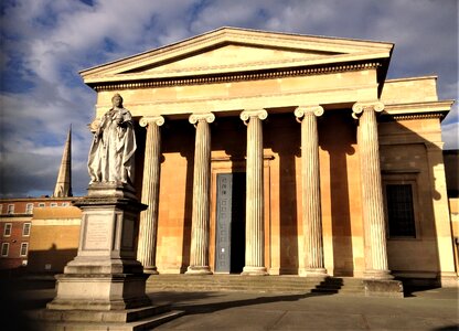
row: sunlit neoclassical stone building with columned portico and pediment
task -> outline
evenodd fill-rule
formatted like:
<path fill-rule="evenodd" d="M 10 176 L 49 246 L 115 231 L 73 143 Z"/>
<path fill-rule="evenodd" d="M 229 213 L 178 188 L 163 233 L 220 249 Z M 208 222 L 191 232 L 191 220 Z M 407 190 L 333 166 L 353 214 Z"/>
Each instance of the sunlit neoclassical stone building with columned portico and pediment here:
<path fill-rule="evenodd" d="M 457 285 L 436 77 L 394 44 L 222 28 L 81 72 L 137 127 L 147 273 Z"/>

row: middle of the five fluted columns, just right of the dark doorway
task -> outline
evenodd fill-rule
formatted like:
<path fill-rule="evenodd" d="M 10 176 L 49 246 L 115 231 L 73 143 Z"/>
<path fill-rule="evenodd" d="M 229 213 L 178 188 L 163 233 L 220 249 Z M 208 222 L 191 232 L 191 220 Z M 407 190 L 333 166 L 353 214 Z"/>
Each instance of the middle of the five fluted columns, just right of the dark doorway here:
<path fill-rule="evenodd" d="M 241 119 L 247 125 L 246 243 L 243 275 L 267 275 L 261 126 L 261 120 L 267 117 L 265 109 L 241 113 Z"/>

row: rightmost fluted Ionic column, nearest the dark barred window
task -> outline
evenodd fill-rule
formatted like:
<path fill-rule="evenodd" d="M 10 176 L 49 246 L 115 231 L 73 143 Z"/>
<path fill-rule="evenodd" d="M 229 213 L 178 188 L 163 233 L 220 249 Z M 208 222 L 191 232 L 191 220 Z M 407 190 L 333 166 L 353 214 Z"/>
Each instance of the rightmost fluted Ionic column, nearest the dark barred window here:
<path fill-rule="evenodd" d="M 365 242 L 365 278 L 392 279 L 387 266 L 386 226 L 380 166 L 376 111 L 384 104 L 356 103 L 352 107 L 359 119 L 357 146 L 362 185 L 362 212 Z"/>

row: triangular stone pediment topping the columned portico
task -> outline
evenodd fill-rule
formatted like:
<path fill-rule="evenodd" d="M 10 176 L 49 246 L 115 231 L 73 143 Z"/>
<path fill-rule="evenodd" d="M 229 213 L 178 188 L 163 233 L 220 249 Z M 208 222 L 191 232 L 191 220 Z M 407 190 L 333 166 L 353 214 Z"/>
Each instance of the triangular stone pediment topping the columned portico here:
<path fill-rule="evenodd" d="M 393 44 L 222 28 L 81 72 L 85 83 L 132 82 L 389 58 Z"/>

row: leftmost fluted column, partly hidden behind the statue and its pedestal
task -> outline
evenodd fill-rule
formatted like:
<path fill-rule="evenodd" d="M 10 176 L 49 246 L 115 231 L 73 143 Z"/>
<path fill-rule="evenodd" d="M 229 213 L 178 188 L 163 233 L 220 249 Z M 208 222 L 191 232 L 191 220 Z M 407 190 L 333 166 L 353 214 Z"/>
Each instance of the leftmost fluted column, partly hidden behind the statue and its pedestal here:
<path fill-rule="evenodd" d="M 148 205 L 148 209 L 140 213 L 137 259 L 142 264 L 143 273 L 158 275 L 156 253 L 161 168 L 161 132 L 159 127 L 164 124 L 164 118 L 162 116 L 142 117 L 139 124 L 147 128 L 141 202 Z"/>

